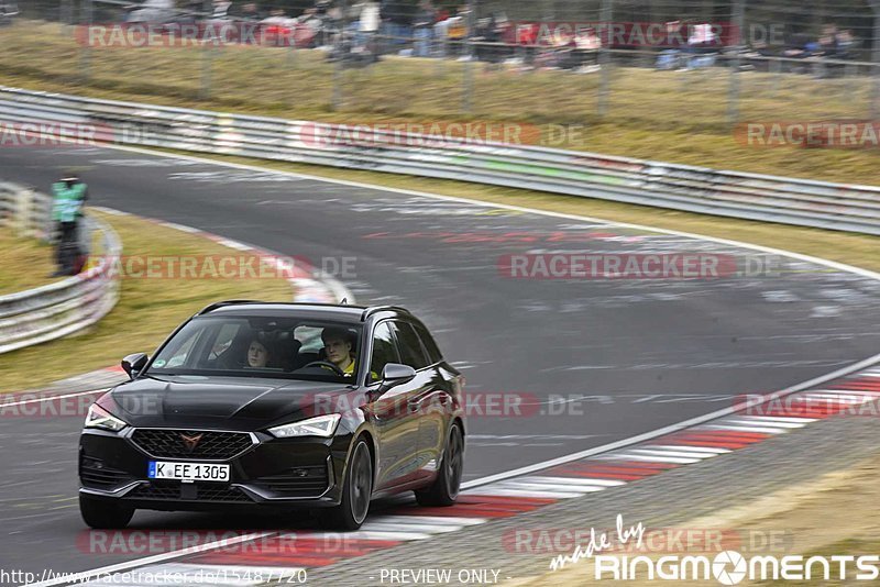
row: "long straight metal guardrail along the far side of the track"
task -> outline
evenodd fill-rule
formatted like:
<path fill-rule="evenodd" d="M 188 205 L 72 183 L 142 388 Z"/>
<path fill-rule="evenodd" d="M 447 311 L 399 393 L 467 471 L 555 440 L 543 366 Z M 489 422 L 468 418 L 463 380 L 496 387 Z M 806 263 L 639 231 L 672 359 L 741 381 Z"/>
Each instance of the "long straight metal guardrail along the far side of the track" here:
<path fill-rule="evenodd" d="M 0 123 L 84 124 L 97 142 L 474 181 L 880 235 L 880 187 L 504 143 L 99 100 L 0 86 Z M 38 129 L 38 123 L 46 129 Z M 351 129 L 349 130 L 351 131 Z M 337 136 L 326 141 L 322 136 Z"/>

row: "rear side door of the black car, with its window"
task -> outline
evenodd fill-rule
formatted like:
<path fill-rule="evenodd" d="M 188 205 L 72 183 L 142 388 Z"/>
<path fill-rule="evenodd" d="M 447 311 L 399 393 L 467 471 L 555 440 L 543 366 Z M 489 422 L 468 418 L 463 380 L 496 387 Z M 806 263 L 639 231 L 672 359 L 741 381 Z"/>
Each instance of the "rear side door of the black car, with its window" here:
<path fill-rule="evenodd" d="M 411 462 L 413 478 L 425 479 L 437 470 L 442 451 L 444 430 L 444 409 L 441 405 L 442 386 L 438 373 L 426 353 L 413 324 L 403 320 L 394 321 L 394 335 L 400 361 L 416 369 L 416 378 L 410 383 L 407 410 L 418 419 L 418 440 L 409 446 L 408 462 Z"/>

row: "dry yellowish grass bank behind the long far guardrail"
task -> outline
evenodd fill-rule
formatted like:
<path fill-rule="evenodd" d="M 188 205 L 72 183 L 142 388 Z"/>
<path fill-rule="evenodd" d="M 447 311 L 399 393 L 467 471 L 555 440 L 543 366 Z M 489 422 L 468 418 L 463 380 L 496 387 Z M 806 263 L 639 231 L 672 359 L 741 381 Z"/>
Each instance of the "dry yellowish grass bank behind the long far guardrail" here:
<path fill-rule="evenodd" d="M 730 74 L 616 68 L 610 110 L 596 114 L 600 76 L 517 73 L 472 64 L 472 109 L 462 112 L 466 64 L 386 58 L 342 74 L 342 108 L 330 108 L 333 65 L 320 52 L 265 47 L 84 49 L 57 24 L 0 30 L 0 82 L 112 99 L 331 122 L 495 121 L 582 125 L 553 146 L 843 182 L 877 184 L 877 149 L 757 148 L 727 126 Z M 205 63 L 210 63 L 206 74 Z M 210 97 L 200 97 L 204 80 Z M 745 73 L 743 121 L 867 119 L 871 79 Z"/>

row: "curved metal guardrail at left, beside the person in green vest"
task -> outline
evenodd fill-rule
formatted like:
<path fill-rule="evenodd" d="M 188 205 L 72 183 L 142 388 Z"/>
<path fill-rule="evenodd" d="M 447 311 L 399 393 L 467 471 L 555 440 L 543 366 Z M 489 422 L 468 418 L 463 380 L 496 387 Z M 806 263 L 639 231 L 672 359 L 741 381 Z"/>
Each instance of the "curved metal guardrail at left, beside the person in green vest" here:
<path fill-rule="evenodd" d="M 26 211 L 24 218 L 0 214 L 3 224 L 16 224 L 28 234 L 51 239 L 52 199 L 48 196 L 0 182 L 0 202 L 3 211 Z M 87 220 L 86 230 L 81 232 L 97 231 L 101 237 L 102 254 L 98 256 L 98 264 L 54 284 L 0 296 L 0 354 L 80 331 L 98 322 L 116 306 L 119 299 L 116 265 L 122 243 L 109 225 L 94 218 L 87 217 Z"/>

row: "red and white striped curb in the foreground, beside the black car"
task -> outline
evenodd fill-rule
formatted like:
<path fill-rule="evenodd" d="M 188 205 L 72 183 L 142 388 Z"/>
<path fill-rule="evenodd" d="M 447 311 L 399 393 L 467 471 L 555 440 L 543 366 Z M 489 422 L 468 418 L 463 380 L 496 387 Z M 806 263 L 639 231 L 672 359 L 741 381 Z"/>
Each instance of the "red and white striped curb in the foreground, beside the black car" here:
<path fill-rule="evenodd" d="M 198 577 L 210 576 L 211 585 L 255 586 L 266 583 L 267 576 L 290 577 L 301 569 L 324 567 L 407 542 L 515 517 L 563 499 L 610 490 L 666 470 L 724 456 L 826 418 L 858 413 L 860 408 L 878 400 L 880 367 L 875 366 L 822 388 L 792 394 L 785 397 L 784 403 L 770 403 L 766 408 L 768 413 L 735 412 L 632 446 L 464 489 L 454 506 L 396 505 L 373 513 L 356 532 L 265 532 L 257 535 L 263 541 L 258 549 L 221 552 L 226 544 L 217 543 L 202 545 L 198 553 L 180 551 L 151 557 L 163 558 L 161 562 L 145 560 L 140 564 L 135 561 L 114 566 L 127 571 L 136 568 L 146 577 L 143 583 L 128 585 L 152 585 L 152 578 L 167 573 L 184 579 L 193 577 L 189 585 L 197 584 Z M 869 413 L 877 416 L 877 407 L 871 408 Z M 106 571 L 90 573 L 102 572 Z M 82 584 L 106 585 L 100 580 Z"/>

